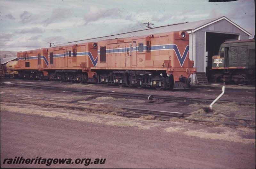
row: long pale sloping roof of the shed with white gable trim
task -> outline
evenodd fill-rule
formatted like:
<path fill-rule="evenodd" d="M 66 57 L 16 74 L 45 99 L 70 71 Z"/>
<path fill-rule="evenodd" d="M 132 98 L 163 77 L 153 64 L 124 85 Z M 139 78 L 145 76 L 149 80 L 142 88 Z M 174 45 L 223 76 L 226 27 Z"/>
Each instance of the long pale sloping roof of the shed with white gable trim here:
<path fill-rule="evenodd" d="M 133 37 L 133 36 L 150 35 L 150 34 L 156 34 L 156 33 L 181 31 L 181 30 L 187 31 L 188 33 L 191 33 L 191 32 L 193 33 L 199 29 L 204 28 L 205 26 L 211 25 L 222 19 L 227 20 L 232 25 L 236 26 L 238 29 L 245 32 L 247 35 L 252 36 L 249 32 L 245 31 L 243 28 L 241 28 L 240 26 L 236 25 L 234 22 L 232 22 L 231 20 L 223 16 L 221 18 L 212 18 L 212 19 L 206 19 L 206 20 L 195 21 L 195 22 L 184 22 L 184 23 L 178 23 L 178 24 L 172 24 L 172 25 L 164 25 L 164 26 L 153 27 L 153 28 L 139 30 L 139 31 L 125 32 L 125 33 L 120 33 L 115 35 L 78 40 L 78 41 L 58 44 L 56 46 L 65 46 L 65 45 L 88 43 L 88 42 L 98 42 L 100 40 L 106 40 L 106 39 L 127 38 L 127 37 Z"/>

